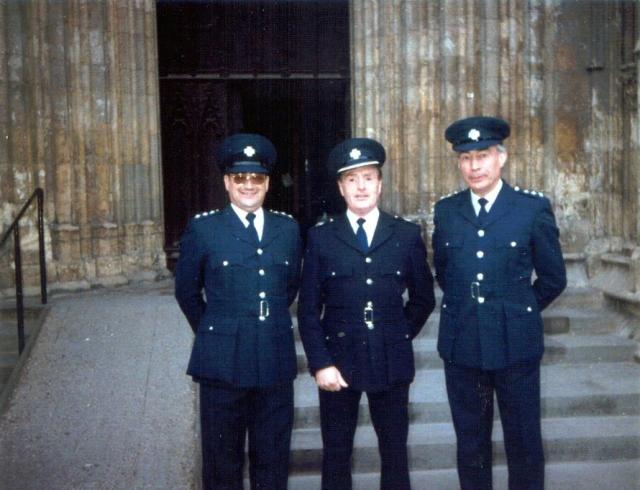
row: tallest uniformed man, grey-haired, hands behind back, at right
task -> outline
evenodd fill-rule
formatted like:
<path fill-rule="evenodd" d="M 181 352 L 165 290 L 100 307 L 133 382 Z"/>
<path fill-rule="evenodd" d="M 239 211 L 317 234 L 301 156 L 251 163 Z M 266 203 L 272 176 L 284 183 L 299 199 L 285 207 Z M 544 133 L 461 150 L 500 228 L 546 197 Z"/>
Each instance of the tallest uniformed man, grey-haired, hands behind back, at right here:
<path fill-rule="evenodd" d="M 445 132 L 468 188 L 435 206 L 433 251 L 442 300 L 445 361 L 462 489 L 489 489 L 494 392 L 509 488 L 541 489 L 540 313 L 566 286 L 558 228 L 542 193 L 501 178 L 509 125 L 456 121 Z M 532 281 L 532 273 L 535 280 Z"/>

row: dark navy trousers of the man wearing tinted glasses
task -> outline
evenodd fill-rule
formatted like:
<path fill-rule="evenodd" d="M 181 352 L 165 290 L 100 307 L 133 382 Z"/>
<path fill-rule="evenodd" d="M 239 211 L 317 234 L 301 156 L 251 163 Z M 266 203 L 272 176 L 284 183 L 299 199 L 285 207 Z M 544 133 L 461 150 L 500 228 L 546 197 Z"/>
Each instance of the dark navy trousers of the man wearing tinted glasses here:
<path fill-rule="evenodd" d="M 200 382 L 202 486 L 242 490 L 249 434 L 249 477 L 253 490 L 286 490 L 293 427 L 293 383 L 238 388 Z"/>

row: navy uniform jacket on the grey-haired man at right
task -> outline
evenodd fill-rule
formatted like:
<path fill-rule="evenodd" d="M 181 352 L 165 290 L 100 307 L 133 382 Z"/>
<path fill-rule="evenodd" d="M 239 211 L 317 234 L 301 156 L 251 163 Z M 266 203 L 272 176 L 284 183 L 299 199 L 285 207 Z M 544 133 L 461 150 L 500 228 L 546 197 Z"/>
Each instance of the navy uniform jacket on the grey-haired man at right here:
<path fill-rule="evenodd" d="M 501 369 L 542 356 L 540 313 L 565 288 L 566 272 L 549 200 L 516 189 L 504 183 L 482 224 L 468 189 L 436 203 L 434 265 L 444 292 L 438 351 L 445 360 Z"/>

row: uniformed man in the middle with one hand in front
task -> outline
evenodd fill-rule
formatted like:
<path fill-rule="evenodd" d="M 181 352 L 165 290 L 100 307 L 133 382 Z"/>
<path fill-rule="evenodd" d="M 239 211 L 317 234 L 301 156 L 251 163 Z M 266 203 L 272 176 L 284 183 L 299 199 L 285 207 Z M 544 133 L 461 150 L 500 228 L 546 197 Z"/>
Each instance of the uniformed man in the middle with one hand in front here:
<path fill-rule="evenodd" d="M 371 139 L 336 146 L 328 163 L 347 211 L 308 234 L 298 320 L 319 387 L 325 490 L 351 488 L 363 392 L 378 435 L 381 488 L 409 488 L 411 340 L 435 300 L 419 226 L 378 209 L 384 161 L 384 148 Z"/>

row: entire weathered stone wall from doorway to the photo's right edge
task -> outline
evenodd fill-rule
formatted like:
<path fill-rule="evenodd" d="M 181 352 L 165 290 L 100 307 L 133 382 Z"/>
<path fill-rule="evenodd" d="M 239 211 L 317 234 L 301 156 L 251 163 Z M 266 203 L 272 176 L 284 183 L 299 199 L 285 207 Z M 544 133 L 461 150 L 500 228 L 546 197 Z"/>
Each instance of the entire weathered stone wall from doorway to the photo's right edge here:
<path fill-rule="evenodd" d="M 497 115 L 505 178 L 551 198 L 568 254 L 637 242 L 633 3 L 352 0 L 353 132 L 389 150 L 384 207 L 428 225 L 461 186 L 445 128 Z"/>

